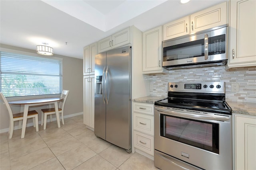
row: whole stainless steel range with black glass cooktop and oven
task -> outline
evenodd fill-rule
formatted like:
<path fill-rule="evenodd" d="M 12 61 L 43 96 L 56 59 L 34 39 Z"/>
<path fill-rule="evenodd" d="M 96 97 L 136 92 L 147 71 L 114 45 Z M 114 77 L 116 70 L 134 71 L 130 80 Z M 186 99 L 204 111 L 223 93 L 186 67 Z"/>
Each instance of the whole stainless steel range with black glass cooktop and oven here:
<path fill-rule="evenodd" d="M 154 164 L 162 170 L 232 170 L 232 109 L 225 82 L 170 82 L 155 102 Z"/>

